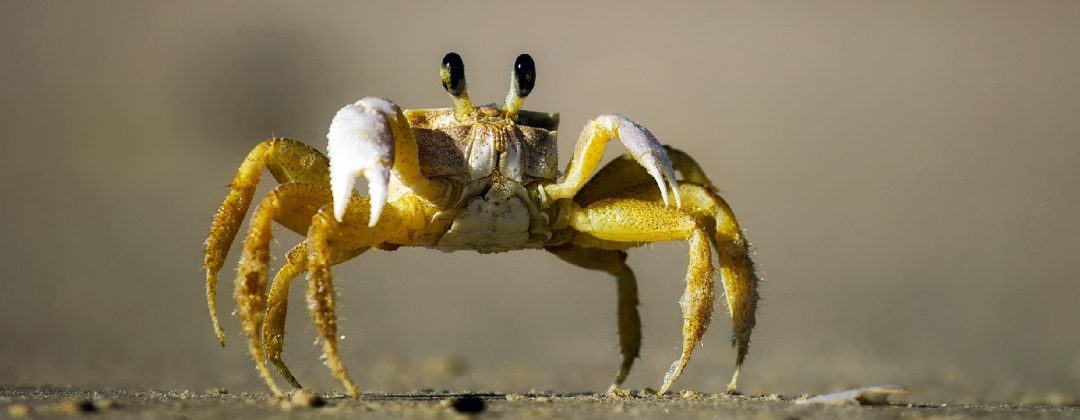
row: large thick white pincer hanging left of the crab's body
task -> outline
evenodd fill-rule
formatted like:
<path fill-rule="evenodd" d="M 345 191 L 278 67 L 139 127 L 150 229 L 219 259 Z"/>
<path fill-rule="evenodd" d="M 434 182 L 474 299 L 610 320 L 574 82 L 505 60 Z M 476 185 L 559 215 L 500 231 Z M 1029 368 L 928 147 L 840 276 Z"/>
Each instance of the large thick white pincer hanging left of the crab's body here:
<path fill-rule="evenodd" d="M 383 98 L 366 97 L 346 105 L 330 122 L 326 151 L 330 160 L 334 218 L 341 221 L 349 206 L 356 177 L 367 179 L 370 219 L 375 226 L 387 204 L 390 167 L 394 162 L 394 135 L 389 119 L 397 118 L 396 106 Z"/>

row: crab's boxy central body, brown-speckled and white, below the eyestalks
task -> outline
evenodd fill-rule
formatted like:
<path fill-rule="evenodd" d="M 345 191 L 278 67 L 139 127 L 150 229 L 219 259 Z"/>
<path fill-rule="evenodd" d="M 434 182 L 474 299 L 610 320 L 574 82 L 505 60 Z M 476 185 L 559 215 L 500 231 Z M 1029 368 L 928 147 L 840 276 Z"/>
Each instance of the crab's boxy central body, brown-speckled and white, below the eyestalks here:
<path fill-rule="evenodd" d="M 537 207 L 526 186 L 555 180 L 558 114 L 524 111 L 515 122 L 503 110 L 484 106 L 460 121 L 454 112 L 405 112 L 422 174 L 447 179 L 461 191 L 416 233 L 413 245 L 481 253 L 542 247 L 551 238 L 549 214 Z M 389 201 L 409 192 L 391 177 Z"/>

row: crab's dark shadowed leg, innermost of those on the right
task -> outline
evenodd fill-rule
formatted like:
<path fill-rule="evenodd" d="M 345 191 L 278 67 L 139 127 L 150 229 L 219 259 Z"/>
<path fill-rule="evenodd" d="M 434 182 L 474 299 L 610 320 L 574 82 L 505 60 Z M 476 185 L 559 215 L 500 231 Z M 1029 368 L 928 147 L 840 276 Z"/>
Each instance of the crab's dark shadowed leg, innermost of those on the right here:
<path fill-rule="evenodd" d="M 600 270 L 615 275 L 619 294 L 619 349 L 622 351 L 622 365 L 616 374 L 615 382 L 609 392 L 622 387 L 630 375 L 630 368 L 642 350 L 642 317 L 637 313 L 637 279 L 626 266 L 626 253 L 586 248 L 575 245 L 550 247 L 549 252 L 559 259 L 589 270 Z"/>

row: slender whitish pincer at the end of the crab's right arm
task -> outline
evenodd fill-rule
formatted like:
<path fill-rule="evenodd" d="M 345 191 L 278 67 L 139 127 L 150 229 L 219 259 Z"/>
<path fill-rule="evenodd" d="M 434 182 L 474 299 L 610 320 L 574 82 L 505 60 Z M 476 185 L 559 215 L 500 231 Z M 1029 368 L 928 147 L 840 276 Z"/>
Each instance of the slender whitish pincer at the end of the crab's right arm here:
<path fill-rule="evenodd" d="M 675 206 L 683 206 L 683 198 L 678 193 L 678 182 L 675 179 L 675 167 L 667 151 L 660 144 L 657 136 L 653 136 L 648 128 L 623 116 L 607 114 L 596 118 L 596 122 L 605 128 L 618 134 L 630 154 L 645 171 L 657 180 L 660 187 L 660 197 L 664 200 L 664 205 L 671 205 L 671 197 L 675 199 Z"/>

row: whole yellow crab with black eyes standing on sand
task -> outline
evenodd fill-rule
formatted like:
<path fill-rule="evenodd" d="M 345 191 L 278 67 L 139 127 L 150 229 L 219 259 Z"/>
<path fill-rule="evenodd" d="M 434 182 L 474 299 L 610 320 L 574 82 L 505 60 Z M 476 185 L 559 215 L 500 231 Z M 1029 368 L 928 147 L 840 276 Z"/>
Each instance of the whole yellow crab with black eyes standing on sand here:
<path fill-rule="evenodd" d="M 264 140 L 247 154 L 204 247 L 206 302 L 221 346 L 217 274 L 266 168 L 279 184 L 248 221 L 234 298 L 248 351 L 278 396 L 284 393 L 267 361 L 293 388 L 301 388 L 282 361 L 282 349 L 289 284 L 307 272 L 307 304 L 325 364 L 349 394 L 360 397 L 338 352 L 338 296 L 330 267 L 373 248 L 401 246 L 544 249 L 615 276 L 622 363 L 609 391 L 618 391 L 642 346 L 637 283 L 626 250 L 658 241 L 689 245 L 686 292 L 679 300 L 681 354 L 659 393 L 681 375 L 708 326 L 714 253 L 733 323 L 735 367 L 727 389 L 733 392 L 755 325 L 758 277 L 750 242 L 701 166 L 661 145 L 642 124 L 604 114 L 585 124 L 559 180 L 558 114 L 522 109 L 536 81 L 528 54 L 515 60 L 501 105 L 472 104 L 456 53 L 443 58 L 440 74 L 453 108 L 402 110 L 388 99 L 365 97 L 334 117 L 327 154 L 288 138 Z M 611 139 L 629 152 L 597 171 Z M 354 189 L 361 176 L 367 181 L 366 195 Z M 287 253 L 268 292 L 273 222 L 306 238 Z"/>

